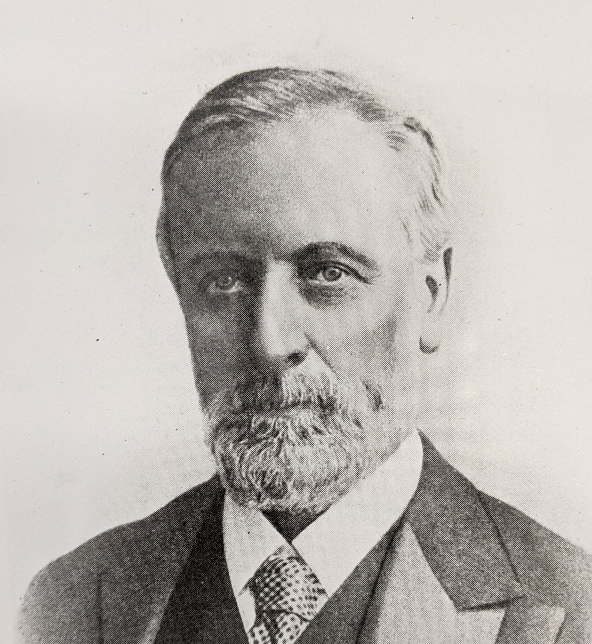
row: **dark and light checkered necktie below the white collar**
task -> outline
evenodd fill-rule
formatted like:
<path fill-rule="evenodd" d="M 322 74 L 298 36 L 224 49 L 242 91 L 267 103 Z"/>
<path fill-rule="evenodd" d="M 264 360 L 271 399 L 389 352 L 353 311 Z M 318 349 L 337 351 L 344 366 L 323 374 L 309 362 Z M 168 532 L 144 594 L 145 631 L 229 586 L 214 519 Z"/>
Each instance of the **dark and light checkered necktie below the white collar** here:
<path fill-rule="evenodd" d="M 291 644 L 327 598 L 310 566 L 284 546 L 259 566 L 248 588 L 255 600 L 249 644 Z"/>

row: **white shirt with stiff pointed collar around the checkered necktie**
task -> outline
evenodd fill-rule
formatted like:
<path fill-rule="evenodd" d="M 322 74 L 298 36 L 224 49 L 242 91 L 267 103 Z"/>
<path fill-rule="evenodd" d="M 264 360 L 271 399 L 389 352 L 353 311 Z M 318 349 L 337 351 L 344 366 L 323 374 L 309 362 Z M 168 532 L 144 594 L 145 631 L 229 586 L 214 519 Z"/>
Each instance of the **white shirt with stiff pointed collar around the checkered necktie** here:
<path fill-rule="evenodd" d="M 402 516 L 420 480 L 423 448 L 413 431 L 385 462 L 306 527 L 290 545 L 259 510 L 225 495 L 224 551 L 232 590 L 249 630 L 255 602 L 246 584 L 281 545 L 295 549 L 319 578 L 327 596 L 353 572 Z"/>

